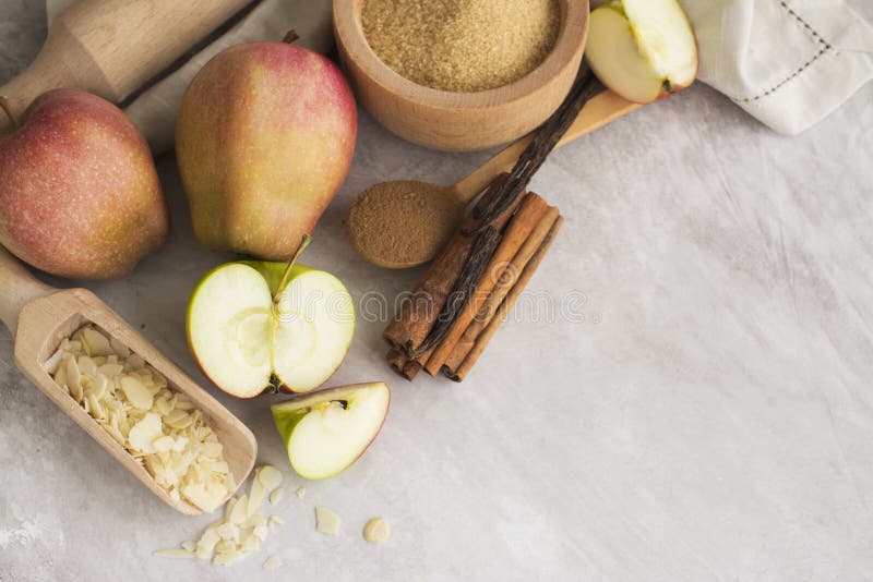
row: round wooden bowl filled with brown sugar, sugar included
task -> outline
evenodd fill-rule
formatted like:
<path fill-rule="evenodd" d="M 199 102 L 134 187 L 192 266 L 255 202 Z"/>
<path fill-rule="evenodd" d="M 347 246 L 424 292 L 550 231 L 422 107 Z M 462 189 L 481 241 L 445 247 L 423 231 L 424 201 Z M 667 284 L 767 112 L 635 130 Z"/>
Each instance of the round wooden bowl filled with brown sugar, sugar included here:
<path fill-rule="evenodd" d="M 588 0 L 334 0 L 358 101 L 400 137 L 469 151 L 511 142 L 561 105 Z"/>

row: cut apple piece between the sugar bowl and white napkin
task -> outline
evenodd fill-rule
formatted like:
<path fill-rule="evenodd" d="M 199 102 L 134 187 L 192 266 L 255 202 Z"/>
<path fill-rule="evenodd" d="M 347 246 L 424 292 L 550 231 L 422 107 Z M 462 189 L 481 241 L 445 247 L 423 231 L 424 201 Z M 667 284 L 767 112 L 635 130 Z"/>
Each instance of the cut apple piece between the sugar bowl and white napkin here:
<path fill-rule="evenodd" d="M 591 11 L 585 57 L 603 85 L 649 104 L 697 75 L 697 40 L 678 0 L 608 0 Z"/>

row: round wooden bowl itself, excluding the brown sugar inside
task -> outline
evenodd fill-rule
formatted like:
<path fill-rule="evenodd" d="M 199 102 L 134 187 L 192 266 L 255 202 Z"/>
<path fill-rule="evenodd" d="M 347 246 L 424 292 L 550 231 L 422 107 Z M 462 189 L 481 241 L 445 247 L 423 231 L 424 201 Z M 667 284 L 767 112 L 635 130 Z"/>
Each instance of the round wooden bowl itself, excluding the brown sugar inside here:
<path fill-rule="evenodd" d="M 358 101 L 404 140 L 434 149 L 470 151 L 511 142 L 561 105 L 573 84 L 588 36 L 588 0 L 559 0 L 554 48 L 518 81 L 478 93 L 433 89 L 383 63 L 363 36 L 363 0 L 334 0 L 339 57 Z"/>

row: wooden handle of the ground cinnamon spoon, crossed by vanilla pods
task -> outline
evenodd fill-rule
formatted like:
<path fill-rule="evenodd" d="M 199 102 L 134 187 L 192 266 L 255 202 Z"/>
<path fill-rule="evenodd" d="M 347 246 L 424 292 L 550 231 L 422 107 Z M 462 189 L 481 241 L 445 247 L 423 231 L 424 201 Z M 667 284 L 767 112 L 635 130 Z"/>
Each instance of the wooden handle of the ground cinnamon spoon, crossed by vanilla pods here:
<path fill-rule="evenodd" d="M 567 132 L 558 142 L 557 147 L 564 146 L 583 135 L 587 135 L 610 123 L 611 121 L 636 111 L 642 106 L 622 99 L 611 90 L 606 90 L 594 97 L 579 111 L 576 121 L 570 126 Z M 485 190 L 488 184 L 501 172 L 512 170 L 518 157 L 530 144 L 534 134 L 528 134 L 517 142 L 506 146 L 493 158 L 479 166 L 469 175 L 461 180 L 453 189 L 461 202 L 464 204 L 471 201 L 479 192 Z"/>

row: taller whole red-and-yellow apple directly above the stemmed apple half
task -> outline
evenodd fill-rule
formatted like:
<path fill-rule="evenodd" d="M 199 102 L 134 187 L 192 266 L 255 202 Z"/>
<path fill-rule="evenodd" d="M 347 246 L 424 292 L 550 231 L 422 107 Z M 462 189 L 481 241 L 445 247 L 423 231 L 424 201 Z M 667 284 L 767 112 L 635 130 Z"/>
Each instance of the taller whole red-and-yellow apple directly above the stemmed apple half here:
<path fill-rule="evenodd" d="M 287 260 L 348 173 L 355 98 L 325 57 L 250 43 L 214 57 L 179 111 L 176 154 L 204 245 Z"/>

